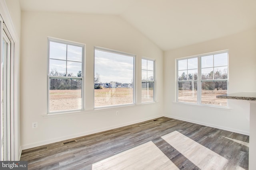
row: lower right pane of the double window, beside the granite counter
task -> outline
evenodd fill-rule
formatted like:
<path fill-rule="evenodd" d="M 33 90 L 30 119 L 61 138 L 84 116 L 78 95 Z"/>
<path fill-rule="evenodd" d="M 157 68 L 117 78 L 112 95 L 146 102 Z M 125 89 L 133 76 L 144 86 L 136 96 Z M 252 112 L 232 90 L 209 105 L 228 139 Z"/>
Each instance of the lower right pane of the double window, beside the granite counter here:
<path fill-rule="evenodd" d="M 227 94 L 227 81 L 202 82 L 202 104 L 227 106 L 227 99 L 216 98 L 222 94 Z"/>

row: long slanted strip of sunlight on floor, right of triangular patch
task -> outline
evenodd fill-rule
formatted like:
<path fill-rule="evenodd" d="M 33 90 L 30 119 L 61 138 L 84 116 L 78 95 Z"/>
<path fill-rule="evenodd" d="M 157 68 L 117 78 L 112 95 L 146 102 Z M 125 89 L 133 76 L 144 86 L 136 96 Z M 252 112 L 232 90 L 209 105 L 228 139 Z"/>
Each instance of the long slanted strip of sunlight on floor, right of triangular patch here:
<path fill-rule="evenodd" d="M 216 152 L 200 145 L 178 131 L 162 136 L 167 143 L 183 154 L 198 168 L 204 170 L 222 170 L 228 160 Z"/>

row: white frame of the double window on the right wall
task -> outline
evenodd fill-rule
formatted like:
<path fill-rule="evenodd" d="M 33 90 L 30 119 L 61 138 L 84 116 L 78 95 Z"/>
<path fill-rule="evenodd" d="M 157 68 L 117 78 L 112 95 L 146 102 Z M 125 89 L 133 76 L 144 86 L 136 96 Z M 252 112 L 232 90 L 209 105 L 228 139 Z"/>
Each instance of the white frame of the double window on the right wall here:
<path fill-rule="evenodd" d="M 201 73 L 201 58 L 208 56 L 208 55 L 217 55 L 217 54 L 221 54 L 221 53 L 228 53 L 228 78 L 226 79 L 206 79 L 206 80 L 202 80 L 202 73 Z M 192 59 L 192 58 L 197 58 L 198 59 L 198 80 L 194 80 L 197 82 L 197 103 L 192 103 L 192 102 L 178 102 L 178 83 L 179 82 L 191 82 L 192 80 L 178 80 L 178 61 L 180 60 L 184 60 L 184 59 Z M 212 66 L 213 68 L 215 66 Z M 190 69 L 187 69 L 190 70 Z M 187 75 L 188 76 L 188 75 Z M 216 51 L 216 52 L 212 52 L 212 53 L 205 53 L 205 54 L 201 54 L 201 55 L 195 55 L 195 56 L 190 56 L 190 57 L 184 57 L 184 58 L 179 58 L 176 59 L 176 102 L 177 103 L 181 103 L 181 104 L 192 104 L 192 105 L 200 105 L 200 106 L 210 106 L 210 107 L 224 107 L 227 108 L 228 107 L 228 101 L 227 101 L 227 106 L 218 106 L 218 105 L 210 105 L 210 104 L 202 104 L 202 82 L 222 82 L 222 81 L 227 81 L 227 93 L 228 93 L 228 81 L 229 81 L 229 51 L 228 50 L 223 50 L 223 51 Z"/>

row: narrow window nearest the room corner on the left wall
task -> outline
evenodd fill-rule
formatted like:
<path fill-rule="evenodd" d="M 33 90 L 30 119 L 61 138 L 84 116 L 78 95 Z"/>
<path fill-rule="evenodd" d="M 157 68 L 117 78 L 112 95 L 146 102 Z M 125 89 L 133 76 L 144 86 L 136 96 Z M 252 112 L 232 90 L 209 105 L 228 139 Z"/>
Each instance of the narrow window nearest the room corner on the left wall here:
<path fill-rule="evenodd" d="M 154 102 L 154 61 L 142 59 L 142 96 L 141 102 Z"/>

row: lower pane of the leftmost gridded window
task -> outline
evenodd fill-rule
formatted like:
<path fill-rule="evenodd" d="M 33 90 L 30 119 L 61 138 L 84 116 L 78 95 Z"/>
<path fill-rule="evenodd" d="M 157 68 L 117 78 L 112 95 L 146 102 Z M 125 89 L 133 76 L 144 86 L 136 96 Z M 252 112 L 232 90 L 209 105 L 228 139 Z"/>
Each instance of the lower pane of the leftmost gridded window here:
<path fill-rule="evenodd" d="M 82 109 L 82 80 L 50 79 L 49 109 L 65 111 Z"/>

